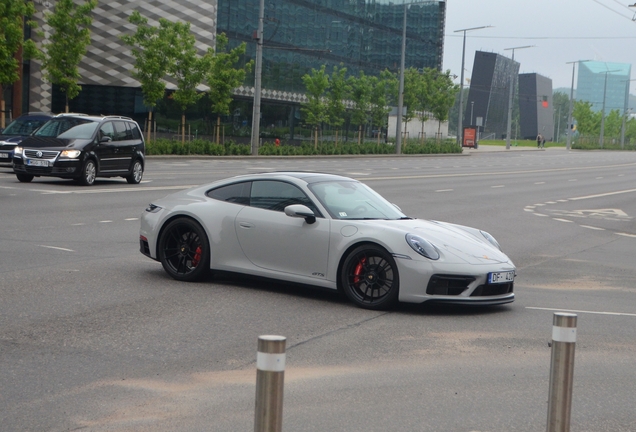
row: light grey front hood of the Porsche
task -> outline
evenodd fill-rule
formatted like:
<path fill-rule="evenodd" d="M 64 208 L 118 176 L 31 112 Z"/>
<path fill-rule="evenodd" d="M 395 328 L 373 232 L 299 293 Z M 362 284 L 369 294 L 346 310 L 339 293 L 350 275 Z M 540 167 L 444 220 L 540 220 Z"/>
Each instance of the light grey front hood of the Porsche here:
<path fill-rule="evenodd" d="M 447 259 L 459 258 L 469 264 L 510 263 L 506 254 L 491 244 L 475 228 L 426 219 L 404 219 L 397 221 L 364 221 L 378 228 L 418 235 L 431 242 Z"/>

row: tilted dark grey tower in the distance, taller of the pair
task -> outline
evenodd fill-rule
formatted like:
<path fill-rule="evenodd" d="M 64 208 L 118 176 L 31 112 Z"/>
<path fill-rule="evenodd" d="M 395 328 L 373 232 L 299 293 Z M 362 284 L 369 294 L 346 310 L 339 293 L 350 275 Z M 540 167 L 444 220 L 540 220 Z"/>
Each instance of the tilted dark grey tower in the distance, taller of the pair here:
<path fill-rule="evenodd" d="M 510 84 L 517 79 L 519 63 L 502 55 L 475 52 L 464 125 L 482 119 L 481 137 L 506 138 Z"/>

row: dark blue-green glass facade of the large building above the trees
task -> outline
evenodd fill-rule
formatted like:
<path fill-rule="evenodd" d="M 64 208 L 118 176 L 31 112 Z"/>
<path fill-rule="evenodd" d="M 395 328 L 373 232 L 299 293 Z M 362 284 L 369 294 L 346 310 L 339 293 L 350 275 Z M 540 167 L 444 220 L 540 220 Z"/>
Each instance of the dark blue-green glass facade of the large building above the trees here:
<path fill-rule="evenodd" d="M 436 1 L 408 9 L 407 68 L 441 69 L 445 8 Z M 232 46 L 246 42 L 248 59 L 256 56 L 258 10 L 259 0 L 218 1 L 217 33 Z M 404 6 L 395 1 L 266 0 L 263 88 L 302 93 L 302 76 L 323 64 L 329 73 L 340 64 L 348 75 L 397 72 L 403 20 Z"/>

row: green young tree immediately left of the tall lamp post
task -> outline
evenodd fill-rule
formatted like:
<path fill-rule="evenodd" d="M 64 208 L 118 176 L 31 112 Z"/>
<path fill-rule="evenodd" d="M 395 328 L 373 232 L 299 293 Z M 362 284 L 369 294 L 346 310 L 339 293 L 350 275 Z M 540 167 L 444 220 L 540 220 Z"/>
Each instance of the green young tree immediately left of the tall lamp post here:
<path fill-rule="evenodd" d="M 216 51 L 208 50 L 208 70 L 205 74 L 210 90 L 208 97 L 211 101 L 212 112 L 216 118 L 216 143 L 219 144 L 219 131 L 221 129 L 221 115 L 230 113 L 232 91 L 245 80 L 245 75 L 252 69 L 250 61 L 244 68 L 237 68 L 240 57 L 245 54 L 246 44 L 243 42 L 236 48 L 227 49 L 228 38 L 225 33 L 216 37 Z"/>

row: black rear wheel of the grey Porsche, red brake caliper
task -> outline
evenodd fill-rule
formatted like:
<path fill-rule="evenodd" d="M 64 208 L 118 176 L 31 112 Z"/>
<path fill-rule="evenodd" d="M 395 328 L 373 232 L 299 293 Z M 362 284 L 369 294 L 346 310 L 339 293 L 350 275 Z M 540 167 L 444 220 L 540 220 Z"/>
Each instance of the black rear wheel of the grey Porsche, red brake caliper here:
<path fill-rule="evenodd" d="M 193 282 L 210 270 L 210 246 L 205 230 L 192 219 L 170 222 L 159 239 L 159 260 L 174 279 Z"/>

